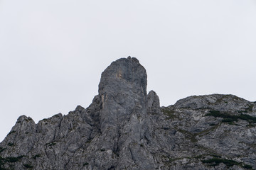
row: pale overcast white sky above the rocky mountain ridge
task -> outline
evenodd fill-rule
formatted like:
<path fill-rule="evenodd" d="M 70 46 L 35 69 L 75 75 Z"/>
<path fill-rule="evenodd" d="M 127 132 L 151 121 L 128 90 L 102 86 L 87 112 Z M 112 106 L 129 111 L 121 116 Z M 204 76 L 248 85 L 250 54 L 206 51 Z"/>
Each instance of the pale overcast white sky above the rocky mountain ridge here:
<path fill-rule="evenodd" d="M 255 0 L 0 0 L 0 141 L 87 107 L 100 74 L 137 57 L 161 106 L 191 95 L 256 101 Z"/>

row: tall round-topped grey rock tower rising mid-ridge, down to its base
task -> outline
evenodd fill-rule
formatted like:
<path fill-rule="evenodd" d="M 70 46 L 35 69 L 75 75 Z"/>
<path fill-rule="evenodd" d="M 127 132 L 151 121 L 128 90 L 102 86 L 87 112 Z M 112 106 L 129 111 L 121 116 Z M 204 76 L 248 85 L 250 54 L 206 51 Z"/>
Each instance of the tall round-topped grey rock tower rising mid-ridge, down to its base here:
<path fill-rule="evenodd" d="M 146 113 L 146 70 L 134 57 L 112 62 L 104 72 L 99 84 L 101 144 L 105 149 L 119 155 L 117 166 L 139 162 L 148 169 L 153 164 L 144 163 L 146 150 L 139 144 L 145 140 L 149 118 Z M 122 135 L 121 135 L 122 134 Z M 122 152 L 121 152 L 122 151 Z M 130 154 L 137 156 L 129 156 Z M 153 161 L 153 160 L 152 160 Z M 135 166 L 135 164 L 134 164 Z"/>

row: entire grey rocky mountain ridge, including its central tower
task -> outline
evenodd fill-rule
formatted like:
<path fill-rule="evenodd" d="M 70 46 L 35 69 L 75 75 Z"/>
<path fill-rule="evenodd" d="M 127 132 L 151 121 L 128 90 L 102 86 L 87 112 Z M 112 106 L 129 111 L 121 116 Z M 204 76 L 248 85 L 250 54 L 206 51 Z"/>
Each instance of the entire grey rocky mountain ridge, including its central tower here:
<path fill-rule="evenodd" d="M 102 72 L 88 108 L 39 123 L 21 115 L 0 143 L 0 169 L 256 169 L 256 103 L 191 96 L 159 106 L 136 58 Z"/>

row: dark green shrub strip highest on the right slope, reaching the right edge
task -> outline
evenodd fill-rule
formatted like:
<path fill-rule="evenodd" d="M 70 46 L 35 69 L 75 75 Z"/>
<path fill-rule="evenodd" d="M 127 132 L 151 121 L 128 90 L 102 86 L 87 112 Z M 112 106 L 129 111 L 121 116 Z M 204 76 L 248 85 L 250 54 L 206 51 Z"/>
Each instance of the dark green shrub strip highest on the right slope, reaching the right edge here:
<path fill-rule="evenodd" d="M 232 125 L 233 122 L 237 122 L 238 119 L 246 120 L 249 123 L 256 123 L 256 117 L 251 115 L 230 115 L 228 113 L 220 113 L 220 111 L 210 111 L 210 113 L 206 114 L 206 116 L 214 116 L 215 118 L 223 118 L 223 123 L 230 123 Z"/>

